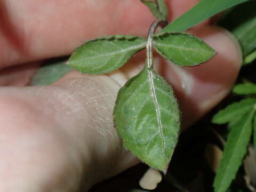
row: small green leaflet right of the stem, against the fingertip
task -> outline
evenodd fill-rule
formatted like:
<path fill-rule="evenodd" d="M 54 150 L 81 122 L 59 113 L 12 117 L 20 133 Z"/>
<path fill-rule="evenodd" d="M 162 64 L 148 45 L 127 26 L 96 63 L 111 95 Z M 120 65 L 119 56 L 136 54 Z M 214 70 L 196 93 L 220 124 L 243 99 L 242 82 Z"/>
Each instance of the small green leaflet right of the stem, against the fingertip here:
<path fill-rule="evenodd" d="M 165 33 L 153 37 L 156 51 L 179 66 L 194 66 L 211 59 L 215 51 L 194 35 Z"/>

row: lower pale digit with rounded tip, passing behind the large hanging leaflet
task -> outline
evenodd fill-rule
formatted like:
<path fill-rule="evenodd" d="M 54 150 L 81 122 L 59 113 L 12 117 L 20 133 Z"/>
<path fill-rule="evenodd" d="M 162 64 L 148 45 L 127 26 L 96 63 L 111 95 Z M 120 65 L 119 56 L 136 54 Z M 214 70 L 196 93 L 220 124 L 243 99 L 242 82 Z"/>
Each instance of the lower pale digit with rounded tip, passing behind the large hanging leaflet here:
<path fill-rule="evenodd" d="M 174 86 L 186 126 L 225 97 L 241 66 L 241 51 L 226 31 L 211 27 L 203 31 L 202 38 L 218 52 L 211 61 L 194 68 L 175 68 L 170 63 L 155 59 L 158 71 Z M 159 65 L 161 63 L 163 66 Z M 86 177 L 88 186 L 137 163 L 137 159 L 122 148 L 111 114 L 118 89 L 138 68 L 138 65 L 126 65 L 109 76 L 73 72 L 51 86 L 1 89 L 0 104 L 4 109 L 1 118 L 5 125 L 1 131 L 5 134 L 0 135 L 0 140 L 6 143 L 1 146 L 10 146 L 1 148 L 1 156 L 12 154 L 11 159 L 19 159 L 18 167 L 22 168 L 14 169 L 17 162 L 12 165 L 13 169 L 9 170 L 12 181 L 28 182 L 20 178 L 28 175 L 25 165 L 29 158 L 36 162 L 31 166 L 34 171 L 30 178 L 37 179 L 33 183 L 43 181 L 44 186 L 53 186 L 54 189 L 60 185 L 66 187 L 63 183 L 69 183 L 70 178 L 62 178 L 61 183 L 51 175 L 69 175 L 75 178 L 74 185 Z M 21 125 L 25 128 L 21 129 Z M 20 143 L 23 143 L 21 149 Z M 44 152 L 31 155 L 31 151 L 38 148 Z M 53 155 L 54 158 L 49 158 Z M 44 159 L 43 165 L 39 159 Z M 1 161 L 6 161 L 6 158 Z M 58 165 L 57 169 L 52 165 Z M 49 172 L 43 171 L 49 167 Z M 39 174 L 41 172 L 44 174 Z M 3 175 L 0 173 L 0 177 Z M 43 179 L 38 179 L 41 176 Z"/>

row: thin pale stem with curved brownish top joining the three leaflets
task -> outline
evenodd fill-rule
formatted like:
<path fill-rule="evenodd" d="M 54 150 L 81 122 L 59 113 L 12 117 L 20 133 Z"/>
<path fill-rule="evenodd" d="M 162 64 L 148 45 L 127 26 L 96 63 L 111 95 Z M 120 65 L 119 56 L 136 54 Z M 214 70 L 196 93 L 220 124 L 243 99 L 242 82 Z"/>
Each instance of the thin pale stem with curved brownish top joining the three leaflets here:
<path fill-rule="evenodd" d="M 146 44 L 146 49 L 147 49 L 147 59 L 146 59 L 146 63 L 147 63 L 147 67 L 148 68 L 153 68 L 153 51 L 152 51 L 152 35 L 154 35 L 155 30 L 158 26 L 161 26 L 162 28 L 164 26 L 166 26 L 166 22 L 165 21 L 154 21 L 148 31 L 148 41 Z"/>

